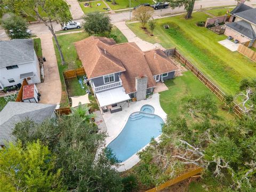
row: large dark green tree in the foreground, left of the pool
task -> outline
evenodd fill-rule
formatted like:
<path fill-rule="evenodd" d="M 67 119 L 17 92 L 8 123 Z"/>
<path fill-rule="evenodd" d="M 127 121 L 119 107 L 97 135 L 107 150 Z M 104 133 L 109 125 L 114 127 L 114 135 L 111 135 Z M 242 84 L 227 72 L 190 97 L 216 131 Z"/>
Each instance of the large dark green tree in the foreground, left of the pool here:
<path fill-rule="evenodd" d="M 106 137 L 98 133 L 98 127 L 84 116 L 74 114 L 52 118 L 42 124 L 26 119 L 15 126 L 13 134 L 22 145 L 41 140 L 57 157 L 56 169 L 61 169 L 63 183 L 68 190 L 77 191 L 122 191 L 122 181 L 102 151 Z"/>

